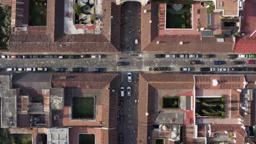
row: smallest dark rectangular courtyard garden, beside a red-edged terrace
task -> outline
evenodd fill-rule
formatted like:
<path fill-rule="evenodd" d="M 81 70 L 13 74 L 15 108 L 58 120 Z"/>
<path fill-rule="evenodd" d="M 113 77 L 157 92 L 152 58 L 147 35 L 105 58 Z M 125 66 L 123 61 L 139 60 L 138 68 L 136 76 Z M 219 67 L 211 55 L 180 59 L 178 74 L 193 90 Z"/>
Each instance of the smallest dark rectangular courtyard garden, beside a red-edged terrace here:
<path fill-rule="evenodd" d="M 162 109 L 180 109 L 179 97 L 162 97 Z"/>

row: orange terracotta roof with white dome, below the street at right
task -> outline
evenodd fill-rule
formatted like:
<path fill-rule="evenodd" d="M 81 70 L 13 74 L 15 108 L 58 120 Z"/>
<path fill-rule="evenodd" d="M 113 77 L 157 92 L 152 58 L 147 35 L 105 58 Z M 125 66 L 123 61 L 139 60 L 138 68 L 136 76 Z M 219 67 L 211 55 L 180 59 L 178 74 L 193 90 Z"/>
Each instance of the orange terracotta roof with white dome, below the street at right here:
<path fill-rule="evenodd" d="M 217 86 L 212 85 L 212 80 L 218 81 Z M 243 89 L 243 75 L 195 75 L 196 89 Z"/>

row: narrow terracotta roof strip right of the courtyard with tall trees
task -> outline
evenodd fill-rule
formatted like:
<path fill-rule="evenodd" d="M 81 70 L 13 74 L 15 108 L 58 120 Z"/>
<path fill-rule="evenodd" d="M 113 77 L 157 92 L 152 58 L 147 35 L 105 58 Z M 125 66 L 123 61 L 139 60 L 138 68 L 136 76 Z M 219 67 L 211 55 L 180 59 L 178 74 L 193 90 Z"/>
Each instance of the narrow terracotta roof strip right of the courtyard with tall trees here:
<path fill-rule="evenodd" d="M 243 95 L 231 90 L 231 118 L 243 118 L 243 109 L 240 107 Z"/>

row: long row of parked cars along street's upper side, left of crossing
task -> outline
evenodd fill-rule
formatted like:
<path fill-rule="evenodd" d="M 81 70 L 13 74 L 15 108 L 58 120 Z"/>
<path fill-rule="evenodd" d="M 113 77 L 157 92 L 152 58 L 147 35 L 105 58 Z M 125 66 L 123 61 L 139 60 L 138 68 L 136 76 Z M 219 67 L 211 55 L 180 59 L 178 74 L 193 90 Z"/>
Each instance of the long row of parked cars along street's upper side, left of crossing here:
<path fill-rule="evenodd" d="M 78 58 L 104 58 L 106 55 L 1 55 L 1 58 L 59 58 L 59 59 L 78 59 Z"/>

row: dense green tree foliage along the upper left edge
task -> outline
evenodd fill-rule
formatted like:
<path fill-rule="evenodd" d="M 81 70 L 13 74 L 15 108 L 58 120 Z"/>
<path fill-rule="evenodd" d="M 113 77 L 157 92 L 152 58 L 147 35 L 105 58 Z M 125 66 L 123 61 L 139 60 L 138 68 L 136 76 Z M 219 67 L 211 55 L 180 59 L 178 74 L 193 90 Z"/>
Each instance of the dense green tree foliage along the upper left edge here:
<path fill-rule="evenodd" d="M 8 49 L 9 37 L 11 33 L 11 7 L 4 5 L 0 7 L 0 49 Z"/>

